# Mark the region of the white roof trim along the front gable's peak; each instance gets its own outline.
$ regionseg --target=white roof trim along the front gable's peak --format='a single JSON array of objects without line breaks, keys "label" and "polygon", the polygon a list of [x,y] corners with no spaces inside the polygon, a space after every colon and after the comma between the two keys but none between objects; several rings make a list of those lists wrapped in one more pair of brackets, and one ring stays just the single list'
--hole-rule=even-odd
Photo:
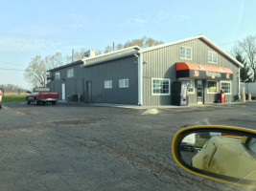
[{"label": "white roof trim along the front gable's peak", "polygon": [[205,43],[207,43],[208,45],[212,46],[214,49],[216,49],[220,53],[224,54],[231,61],[235,62],[239,67],[244,68],[244,65],[241,62],[239,62],[236,58],[234,58],[229,53],[226,53],[225,51],[223,51],[221,49],[221,47],[216,45],[213,41],[211,41],[209,38],[207,38],[203,34],[199,34],[199,35],[192,36],[192,37],[189,37],[189,38],[184,38],[184,39],[177,40],[177,41],[170,42],[170,43],[165,43],[165,44],[161,44],[161,45],[156,45],[156,46],[153,46],[153,47],[145,48],[145,49],[140,50],[139,53],[150,52],[150,51],[153,51],[153,50],[156,50],[156,49],[168,47],[168,46],[171,46],[171,45],[175,45],[175,44],[178,44],[178,43],[182,43],[182,42],[186,42],[186,41],[190,41],[190,40],[194,40],[194,39],[202,39]]}]

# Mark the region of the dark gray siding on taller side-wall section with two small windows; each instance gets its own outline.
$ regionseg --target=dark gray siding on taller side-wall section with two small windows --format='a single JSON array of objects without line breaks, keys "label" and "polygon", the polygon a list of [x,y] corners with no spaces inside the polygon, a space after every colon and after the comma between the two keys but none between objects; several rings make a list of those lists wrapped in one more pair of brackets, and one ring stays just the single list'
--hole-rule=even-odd
[{"label": "dark gray siding on taller side-wall section with two small windows", "polygon": [[[137,57],[135,56],[86,67],[84,81],[92,81],[92,101],[137,104],[137,69]],[[128,79],[128,88],[119,88],[119,79]],[[105,89],[105,80],[112,80],[111,89]]]}]

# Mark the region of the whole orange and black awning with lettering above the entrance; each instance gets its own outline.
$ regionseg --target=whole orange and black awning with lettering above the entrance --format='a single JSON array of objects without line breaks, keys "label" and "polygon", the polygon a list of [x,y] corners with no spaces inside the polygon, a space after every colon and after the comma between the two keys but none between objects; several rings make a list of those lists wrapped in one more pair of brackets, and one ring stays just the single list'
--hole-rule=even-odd
[{"label": "whole orange and black awning with lettering above the entrance", "polygon": [[233,72],[225,67],[177,62],[176,77],[231,80]]}]

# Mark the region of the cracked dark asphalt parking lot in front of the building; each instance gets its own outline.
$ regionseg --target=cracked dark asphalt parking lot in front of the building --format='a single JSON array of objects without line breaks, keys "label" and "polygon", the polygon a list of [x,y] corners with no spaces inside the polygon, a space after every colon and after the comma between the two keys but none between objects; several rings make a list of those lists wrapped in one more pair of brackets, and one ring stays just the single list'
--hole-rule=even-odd
[{"label": "cracked dark asphalt parking lot in front of the building", "polygon": [[256,102],[153,110],[3,106],[0,190],[244,190],[180,169],[171,144],[191,125],[256,129]]}]

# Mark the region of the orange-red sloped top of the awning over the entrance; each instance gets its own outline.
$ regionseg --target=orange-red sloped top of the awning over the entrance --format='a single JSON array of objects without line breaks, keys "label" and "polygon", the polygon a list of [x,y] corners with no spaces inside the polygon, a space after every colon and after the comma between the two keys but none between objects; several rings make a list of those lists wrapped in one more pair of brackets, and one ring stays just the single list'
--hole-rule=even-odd
[{"label": "orange-red sloped top of the awning over the entrance", "polygon": [[194,71],[207,71],[213,73],[225,73],[225,74],[233,74],[231,69],[220,66],[208,66],[203,64],[192,64],[185,62],[177,62],[176,63],[176,71],[184,71],[184,70],[194,70]]}]

